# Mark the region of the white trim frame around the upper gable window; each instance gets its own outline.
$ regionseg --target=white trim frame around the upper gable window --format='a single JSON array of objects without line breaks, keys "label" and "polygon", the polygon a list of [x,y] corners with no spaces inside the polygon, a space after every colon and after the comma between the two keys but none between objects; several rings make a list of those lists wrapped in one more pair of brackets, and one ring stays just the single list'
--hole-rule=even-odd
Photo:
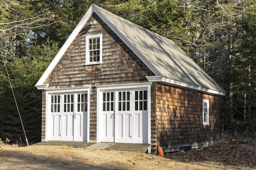
[{"label": "white trim frame around the upper gable window", "polygon": [[[89,53],[89,39],[100,37],[100,61],[90,62],[90,53]],[[92,64],[101,64],[102,63],[102,34],[96,35],[88,35],[85,38],[85,65],[92,65]]]}]

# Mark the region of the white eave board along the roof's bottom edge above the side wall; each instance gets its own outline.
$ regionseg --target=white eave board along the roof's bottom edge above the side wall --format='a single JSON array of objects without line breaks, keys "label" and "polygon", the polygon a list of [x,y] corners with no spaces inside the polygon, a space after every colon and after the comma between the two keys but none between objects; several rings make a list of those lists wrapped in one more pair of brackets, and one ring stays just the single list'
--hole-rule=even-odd
[{"label": "white eave board along the roof's bottom edge above the side wall", "polygon": [[190,89],[199,90],[199,91],[206,92],[206,93],[218,94],[218,95],[221,95],[221,96],[224,96],[226,94],[225,92],[220,92],[220,91],[211,90],[211,89],[208,89],[208,88],[194,86],[192,84],[180,82],[180,81],[177,81],[177,80],[172,80],[172,79],[165,78],[165,77],[162,77],[162,76],[146,76],[146,78],[148,79],[148,82],[165,82],[165,83],[168,83],[168,84],[173,84],[174,86],[190,88]]}]

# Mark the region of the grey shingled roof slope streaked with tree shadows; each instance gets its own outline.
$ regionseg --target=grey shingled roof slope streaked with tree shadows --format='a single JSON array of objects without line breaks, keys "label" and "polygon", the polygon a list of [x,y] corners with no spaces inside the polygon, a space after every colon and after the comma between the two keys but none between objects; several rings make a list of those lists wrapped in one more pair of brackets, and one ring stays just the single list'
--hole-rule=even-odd
[{"label": "grey shingled roof slope streaked with tree shadows", "polygon": [[96,5],[93,6],[96,9],[96,14],[103,17],[107,25],[113,26],[118,34],[122,35],[157,70],[160,76],[225,93],[223,88],[171,39],[149,31]]}]

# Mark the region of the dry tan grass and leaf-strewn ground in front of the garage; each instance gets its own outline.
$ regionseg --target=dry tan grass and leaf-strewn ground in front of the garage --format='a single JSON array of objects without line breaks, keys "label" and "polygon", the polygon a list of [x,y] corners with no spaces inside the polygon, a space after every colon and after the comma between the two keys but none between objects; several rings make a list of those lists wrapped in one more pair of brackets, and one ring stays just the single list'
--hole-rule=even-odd
[{"label": "dry tan grass and leaf-strewn ground in front of the garage", "polygon": [[218,146],[165,154],[49,146],[0,146],[0,169],[186,169],[252,170],[256,168],[256,140],[247,149],[234,148],[233,141]]}]

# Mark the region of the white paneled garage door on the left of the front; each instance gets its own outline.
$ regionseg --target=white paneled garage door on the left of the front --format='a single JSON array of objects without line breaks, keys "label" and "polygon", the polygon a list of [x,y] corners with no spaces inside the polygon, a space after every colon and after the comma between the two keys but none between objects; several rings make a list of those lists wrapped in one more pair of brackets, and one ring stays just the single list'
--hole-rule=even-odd
[{"label": "white paneled garage door on the left of the front", "polygon": [[50,115],[46,120],[49,140],[87,140],[87,101],[87,93],[50,95]]}]

